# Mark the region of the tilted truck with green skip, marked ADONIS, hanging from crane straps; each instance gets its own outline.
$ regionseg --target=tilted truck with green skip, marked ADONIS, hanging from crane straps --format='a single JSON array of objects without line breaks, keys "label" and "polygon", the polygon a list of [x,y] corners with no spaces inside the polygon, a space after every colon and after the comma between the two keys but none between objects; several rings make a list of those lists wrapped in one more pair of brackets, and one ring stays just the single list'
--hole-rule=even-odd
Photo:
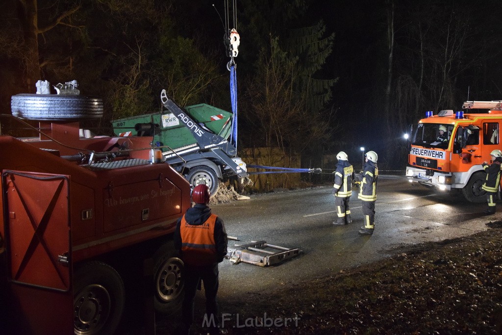
[{"label": "tilted truck with green skip, marked ADONIS, hanging from crane straps", "polygon": [[204,183],[211,195],[220,182],[247,181],[245,163],[237,157],[231,136],[232,113],[201,103],[181,108],[161,93],[164,109],[131,118],[112,121],[116,135],[144,136],[162,150],[166,162],[195,187]]}]

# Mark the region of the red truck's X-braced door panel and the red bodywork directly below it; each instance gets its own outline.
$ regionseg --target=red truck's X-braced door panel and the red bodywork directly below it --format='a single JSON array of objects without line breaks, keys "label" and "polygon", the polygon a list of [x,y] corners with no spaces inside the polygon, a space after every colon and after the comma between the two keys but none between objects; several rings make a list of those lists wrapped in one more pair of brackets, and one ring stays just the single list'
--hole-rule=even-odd
[{"label": "red truck's X-braced door panel and the red bodywork directly below it", "polygon": [[4,170],[2,189],[6,333],[72,334],[69,176]]}]

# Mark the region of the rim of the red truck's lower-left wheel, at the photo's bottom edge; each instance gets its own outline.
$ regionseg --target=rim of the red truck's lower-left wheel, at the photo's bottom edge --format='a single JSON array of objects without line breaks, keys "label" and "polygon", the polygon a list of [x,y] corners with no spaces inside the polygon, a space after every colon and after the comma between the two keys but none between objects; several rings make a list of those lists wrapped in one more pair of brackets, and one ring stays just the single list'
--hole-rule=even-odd
[{"label": "rim of the red truck's lower-left wheel, at the photo's bottom edge", "polygon": [[110,295],[104,286],[92,284],[84,287],[73,300],[75,333],[97,333],[110,314]]}]

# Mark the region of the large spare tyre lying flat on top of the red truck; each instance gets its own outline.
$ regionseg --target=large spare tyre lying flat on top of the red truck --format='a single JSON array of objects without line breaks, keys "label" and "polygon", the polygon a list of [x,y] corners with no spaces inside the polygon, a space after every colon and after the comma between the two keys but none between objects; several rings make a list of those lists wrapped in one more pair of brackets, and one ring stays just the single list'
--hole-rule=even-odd
[{"label": "large spare tyre lying flat on top of the red truck", "polygon": [[103,100],[84,95],[16,94],[12,115],[27,120],[65,121],[103,116]]}]

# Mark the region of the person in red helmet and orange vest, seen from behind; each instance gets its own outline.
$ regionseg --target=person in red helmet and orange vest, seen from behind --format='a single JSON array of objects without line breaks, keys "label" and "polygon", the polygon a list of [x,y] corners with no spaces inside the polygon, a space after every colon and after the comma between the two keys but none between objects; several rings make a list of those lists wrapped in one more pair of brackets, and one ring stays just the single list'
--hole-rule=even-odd
[{"label": "person in red helmet and orange vest, seen from behind", "polygon": [[194,318],[194,298],[199,282],[204,283],[206,315],[203,325],[210,333],[219,333],[218,263],[227,253],[227,236],[223,220],[208,207],[209,188],[195,186],[192,200],[195,205],[178,219],[174,243],[184,263],[185,297],[182,305],[182,333],[190,333]]}]

